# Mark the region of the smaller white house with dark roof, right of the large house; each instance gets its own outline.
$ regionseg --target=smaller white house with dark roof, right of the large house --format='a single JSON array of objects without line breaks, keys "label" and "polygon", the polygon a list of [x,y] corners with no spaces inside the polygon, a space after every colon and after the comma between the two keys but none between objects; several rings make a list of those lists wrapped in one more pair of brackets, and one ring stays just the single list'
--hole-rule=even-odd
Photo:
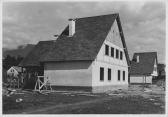
[{"label": "smaller white house with dark roof, right of the large house", "polygon": [[130,68],[130,83],[150,83],[158,76],[156,52],[134,53]]}]

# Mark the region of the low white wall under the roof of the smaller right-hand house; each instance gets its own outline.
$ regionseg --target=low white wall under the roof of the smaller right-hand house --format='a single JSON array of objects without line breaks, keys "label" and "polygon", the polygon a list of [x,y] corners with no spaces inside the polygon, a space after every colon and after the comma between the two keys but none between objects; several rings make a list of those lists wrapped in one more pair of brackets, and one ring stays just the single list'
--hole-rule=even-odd
[{"label": "low white wall under the roof of the smaller right-hand house", "polygon": [[130,76],[130,83],[151,83],[152,84],[152,76]]}]

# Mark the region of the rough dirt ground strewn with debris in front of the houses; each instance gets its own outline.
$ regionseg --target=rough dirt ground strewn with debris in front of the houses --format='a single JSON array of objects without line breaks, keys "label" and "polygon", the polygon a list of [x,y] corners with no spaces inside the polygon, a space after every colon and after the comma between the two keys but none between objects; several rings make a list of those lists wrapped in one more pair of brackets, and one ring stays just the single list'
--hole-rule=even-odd
[{"label": "rough dirt ground strewn with debris in front of the houses", "polygon": [[156,85],[92,94],[17,90],[3,96],[3,114],[164,114],[165,91]]}]

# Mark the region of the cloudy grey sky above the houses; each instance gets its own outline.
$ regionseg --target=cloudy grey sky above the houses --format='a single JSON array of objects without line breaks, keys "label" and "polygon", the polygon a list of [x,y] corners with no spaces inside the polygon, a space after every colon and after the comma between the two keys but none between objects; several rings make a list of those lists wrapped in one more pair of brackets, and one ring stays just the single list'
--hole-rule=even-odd
[{"label": "cloudy grey sky above the houses", "polygon": [[3,48],[53,40],[69,18],[119,13],[129,57],[156,51],[165,63],[166,5],[156,1],[3,2]]}]

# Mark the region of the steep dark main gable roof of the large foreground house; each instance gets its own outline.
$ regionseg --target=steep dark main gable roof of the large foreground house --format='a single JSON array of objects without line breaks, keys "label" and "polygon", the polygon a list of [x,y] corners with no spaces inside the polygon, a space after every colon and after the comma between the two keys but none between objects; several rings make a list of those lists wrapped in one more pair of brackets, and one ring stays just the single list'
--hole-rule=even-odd
[{"label": "steep dark main gable roof of the large foreground house", "polygon": [[[28,58],[32,55],[38,56],[38,59],[31,59],[32,61],[36,60],[34,63],[38,62],[38,65],[40,62],[94,60],[115,20],[119,26],[125,55],[129,65],[129,56],[119,14],[76,18],[75,34],[72,37],[69,36],[69,27],[67,26],[55,43],[52,42],[52,46],[47,46],[49,49],[46,49],[46,52],[43,54],[36,53],[34,51],[43,50],[44,48],[40,49],[40,47],[35,47]],[[24,61],[26,62],[26,60]],[[26,64],[33,65],[31,62]]]}]

